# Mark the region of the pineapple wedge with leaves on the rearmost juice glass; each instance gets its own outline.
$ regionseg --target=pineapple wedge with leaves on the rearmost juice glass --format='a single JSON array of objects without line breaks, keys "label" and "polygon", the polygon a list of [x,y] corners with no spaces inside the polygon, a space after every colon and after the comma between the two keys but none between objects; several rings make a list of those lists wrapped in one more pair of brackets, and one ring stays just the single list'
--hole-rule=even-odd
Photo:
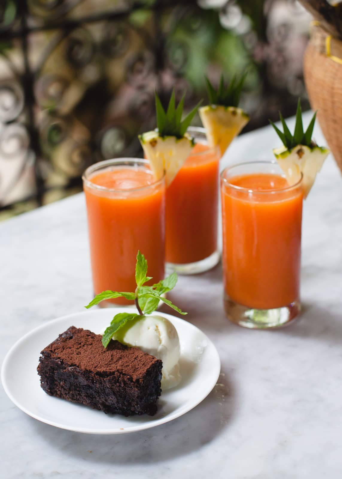
[{"label": "pineapple wedge with leaves on the rearmost juice glass", "polygon": [[218,146],[221,156],[250,119],[247,113],[238,108],[245,77],[246,75],[243,75],[240,80],[234,77],[225,87],[222,75],[217,91],[205,78],[210,105],[200,108],[199,114],[206,130],[209,146],[212,148]]}]

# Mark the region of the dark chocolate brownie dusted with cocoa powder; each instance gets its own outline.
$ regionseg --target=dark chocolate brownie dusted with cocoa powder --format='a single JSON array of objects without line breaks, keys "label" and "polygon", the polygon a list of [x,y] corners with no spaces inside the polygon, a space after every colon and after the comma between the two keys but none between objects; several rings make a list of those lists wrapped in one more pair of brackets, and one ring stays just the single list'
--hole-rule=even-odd
[{"label": "dark chocolate brownie dusted with cocoa powder", "polygon": [[153,414],[160,396],[162,362],[118,341],[71,326],[41,352],[41,387],[50,396],[105,413]]}]

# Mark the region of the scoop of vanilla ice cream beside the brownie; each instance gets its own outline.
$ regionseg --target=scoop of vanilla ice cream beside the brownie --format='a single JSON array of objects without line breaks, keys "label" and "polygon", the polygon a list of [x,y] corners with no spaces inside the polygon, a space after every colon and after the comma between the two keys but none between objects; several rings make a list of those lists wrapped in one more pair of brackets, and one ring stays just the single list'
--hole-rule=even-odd
[{"label": "scoop of vanilla ice cream beside the brownie", "polygon": [[127,346],[137,346],[163,362],[161,388],[170,389],[179,384],[180,344],[176,328],[162,316],[142,316],[127,321],[117,331],[115,339]]}]

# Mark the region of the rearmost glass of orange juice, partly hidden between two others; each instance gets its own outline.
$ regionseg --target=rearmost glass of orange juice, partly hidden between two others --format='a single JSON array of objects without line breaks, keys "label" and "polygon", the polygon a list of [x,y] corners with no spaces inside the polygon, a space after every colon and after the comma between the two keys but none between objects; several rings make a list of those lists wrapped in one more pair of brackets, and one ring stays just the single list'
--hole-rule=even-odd
[{"label": "rearmost glass of orange juice, partly hidden between two others", "polygon": [[217,249],[219,148],[209,148],[204,128],[188,128],[194,148],[166,190],[166,264],[179,274],[214,267]]}]

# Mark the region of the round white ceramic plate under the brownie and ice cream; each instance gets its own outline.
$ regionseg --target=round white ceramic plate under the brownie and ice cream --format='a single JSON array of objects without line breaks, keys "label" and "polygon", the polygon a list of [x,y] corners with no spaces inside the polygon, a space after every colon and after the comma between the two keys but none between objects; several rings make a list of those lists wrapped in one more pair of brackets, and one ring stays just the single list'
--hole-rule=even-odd
[{"label": "round white ceramic plate under the brownie and ice cream", "polygon": [[86,406],[48,396],[37,374],[42,351],[70,326],[100,333],[114,314],[127,308],[93,309],[54,319],[17,341],[2,364],[1,380],[8,397],[18,408],[52,426],[91,434],[119,434],[140,431],[172,421],[193,409],[214,388],[220,373],[220,359],[214,344],[194,325],[170,314],[158,312],[175,326],[180,343],[181,383],[162,392],[155,416],[104,414]]}]

